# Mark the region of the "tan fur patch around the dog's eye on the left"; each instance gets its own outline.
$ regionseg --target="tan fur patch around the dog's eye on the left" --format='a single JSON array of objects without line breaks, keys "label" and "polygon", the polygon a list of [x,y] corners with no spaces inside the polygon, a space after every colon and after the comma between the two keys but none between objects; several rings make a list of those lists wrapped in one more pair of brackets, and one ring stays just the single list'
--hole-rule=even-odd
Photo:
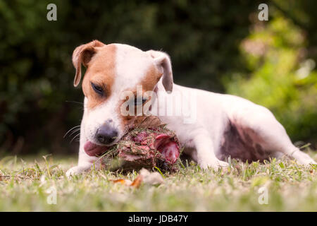
[{"label": "tan fur patch around the dog's eye on the left", "polygon": [[[111,88],[116,76],[116,45],[108,44],[97,49],[96,54],[87,64],[87,71],[82,81],[82,91],[88,98],[87,107],[92,109],[105,102],[111,95]],[[97,94],[91,83],[104,89],[104,95]]]}]

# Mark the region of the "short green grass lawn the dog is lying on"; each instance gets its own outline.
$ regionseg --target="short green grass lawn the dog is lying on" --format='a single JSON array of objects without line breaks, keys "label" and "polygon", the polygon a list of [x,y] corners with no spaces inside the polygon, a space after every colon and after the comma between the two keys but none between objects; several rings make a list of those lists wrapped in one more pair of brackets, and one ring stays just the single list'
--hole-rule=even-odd
[{"label": "short green grass lawn the dog is lying on", "polygon": [[[309,153],[316,160],[317,153]],[[232,160],[230,169],[203,171],[190,162],[165,184],[139,189],[109,179],[137,177],[92,171],[67,179],[77,157],[5,157],[0,160],[0,211],[316,211],[316,165],[302,167],[291,160],[251,164]],[[186,166],[186,164],[185,164]],[[5,176],[5,177],[4,177]],[[260,205],[260,187],[268,189],[268,204]],[[55,187],[56,205],[46,201]]]}]

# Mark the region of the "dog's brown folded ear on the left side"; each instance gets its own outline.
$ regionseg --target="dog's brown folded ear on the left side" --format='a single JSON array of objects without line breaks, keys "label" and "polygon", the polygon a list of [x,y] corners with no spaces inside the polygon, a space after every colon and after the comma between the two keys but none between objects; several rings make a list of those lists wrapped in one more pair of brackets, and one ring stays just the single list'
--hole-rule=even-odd
[{"label": "dog's brown folded ear on the left side", "polygon": [[74,86],[80,83],[82,77],[82,64],[87,68],[87,64],[92,59],[92,56],[97,52],[96,47],[103,47],[104,43],[94,40],[87,44],[82,44],[73,52],[73,65],[76,69]]}]

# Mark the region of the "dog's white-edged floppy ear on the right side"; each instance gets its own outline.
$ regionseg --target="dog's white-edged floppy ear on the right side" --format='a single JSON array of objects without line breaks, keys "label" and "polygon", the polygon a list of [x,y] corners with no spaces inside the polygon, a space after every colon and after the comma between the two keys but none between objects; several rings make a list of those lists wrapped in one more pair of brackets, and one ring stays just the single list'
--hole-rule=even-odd
[{"label": "dog's white-edged floppy ear on the right side", "polygon": [[162,83],[167,93],[173,90],[173,72],[170,57],[165,52],[149,50],[147,51],[153,57],[154,63],[159,69],[163,70]]}]

